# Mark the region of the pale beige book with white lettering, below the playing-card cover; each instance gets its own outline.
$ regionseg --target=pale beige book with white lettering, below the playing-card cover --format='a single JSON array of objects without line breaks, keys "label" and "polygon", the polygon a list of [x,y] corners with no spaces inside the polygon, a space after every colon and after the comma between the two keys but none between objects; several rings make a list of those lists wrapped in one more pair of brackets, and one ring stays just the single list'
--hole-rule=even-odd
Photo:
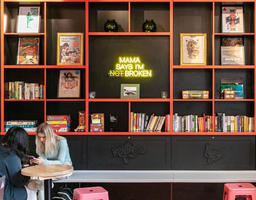
[{"label": "pale beige book with white lettering, below the playing-card cover", "polygon": [[221,46],[221,65],[244,65],[244,46]]}]

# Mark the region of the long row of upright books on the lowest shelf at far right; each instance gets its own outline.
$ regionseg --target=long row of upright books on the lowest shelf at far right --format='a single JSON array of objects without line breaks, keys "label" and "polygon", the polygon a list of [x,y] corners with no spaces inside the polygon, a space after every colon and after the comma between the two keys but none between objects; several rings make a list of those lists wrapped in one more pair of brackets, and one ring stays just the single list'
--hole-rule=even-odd
[{"label": "long row of upright books on the lowest shelf at far right", "polygon": [[245,115],[226,115],[217,113],[215,116],[205,115],[173,115],[173,132],[253,132],[254,117]]}]

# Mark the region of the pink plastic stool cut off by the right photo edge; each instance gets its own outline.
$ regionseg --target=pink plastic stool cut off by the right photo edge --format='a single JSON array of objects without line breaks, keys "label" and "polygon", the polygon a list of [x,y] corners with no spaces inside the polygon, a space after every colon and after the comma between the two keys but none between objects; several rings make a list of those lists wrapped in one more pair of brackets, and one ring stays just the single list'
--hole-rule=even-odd
[{"label": "pink plastic stool cut off by the right photo edge", "polygon": [[224,184],[223,200],[235,200],[236,197],[256,200],[256,188],[249,183]]}]

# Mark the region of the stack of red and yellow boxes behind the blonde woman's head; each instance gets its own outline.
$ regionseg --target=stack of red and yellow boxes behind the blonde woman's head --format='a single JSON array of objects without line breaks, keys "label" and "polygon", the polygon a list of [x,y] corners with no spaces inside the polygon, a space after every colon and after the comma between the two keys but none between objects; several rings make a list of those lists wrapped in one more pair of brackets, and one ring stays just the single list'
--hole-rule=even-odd
[{"label": "stack of red and yellow boxes behind the blonde woman's head", "polygon": [[46,123],[50,124],[54,132],[69,132],[71,115],[47,115]]}]

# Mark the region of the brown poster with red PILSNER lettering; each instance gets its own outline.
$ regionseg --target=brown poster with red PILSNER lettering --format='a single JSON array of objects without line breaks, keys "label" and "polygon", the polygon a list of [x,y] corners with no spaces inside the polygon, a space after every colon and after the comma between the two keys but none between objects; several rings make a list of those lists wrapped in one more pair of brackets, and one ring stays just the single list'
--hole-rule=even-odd
[{"label": "brown poster with red PILSNER lettering", "polygon": [[80,70],[60,70],[58,98],[79,98],[80,86]]}]

